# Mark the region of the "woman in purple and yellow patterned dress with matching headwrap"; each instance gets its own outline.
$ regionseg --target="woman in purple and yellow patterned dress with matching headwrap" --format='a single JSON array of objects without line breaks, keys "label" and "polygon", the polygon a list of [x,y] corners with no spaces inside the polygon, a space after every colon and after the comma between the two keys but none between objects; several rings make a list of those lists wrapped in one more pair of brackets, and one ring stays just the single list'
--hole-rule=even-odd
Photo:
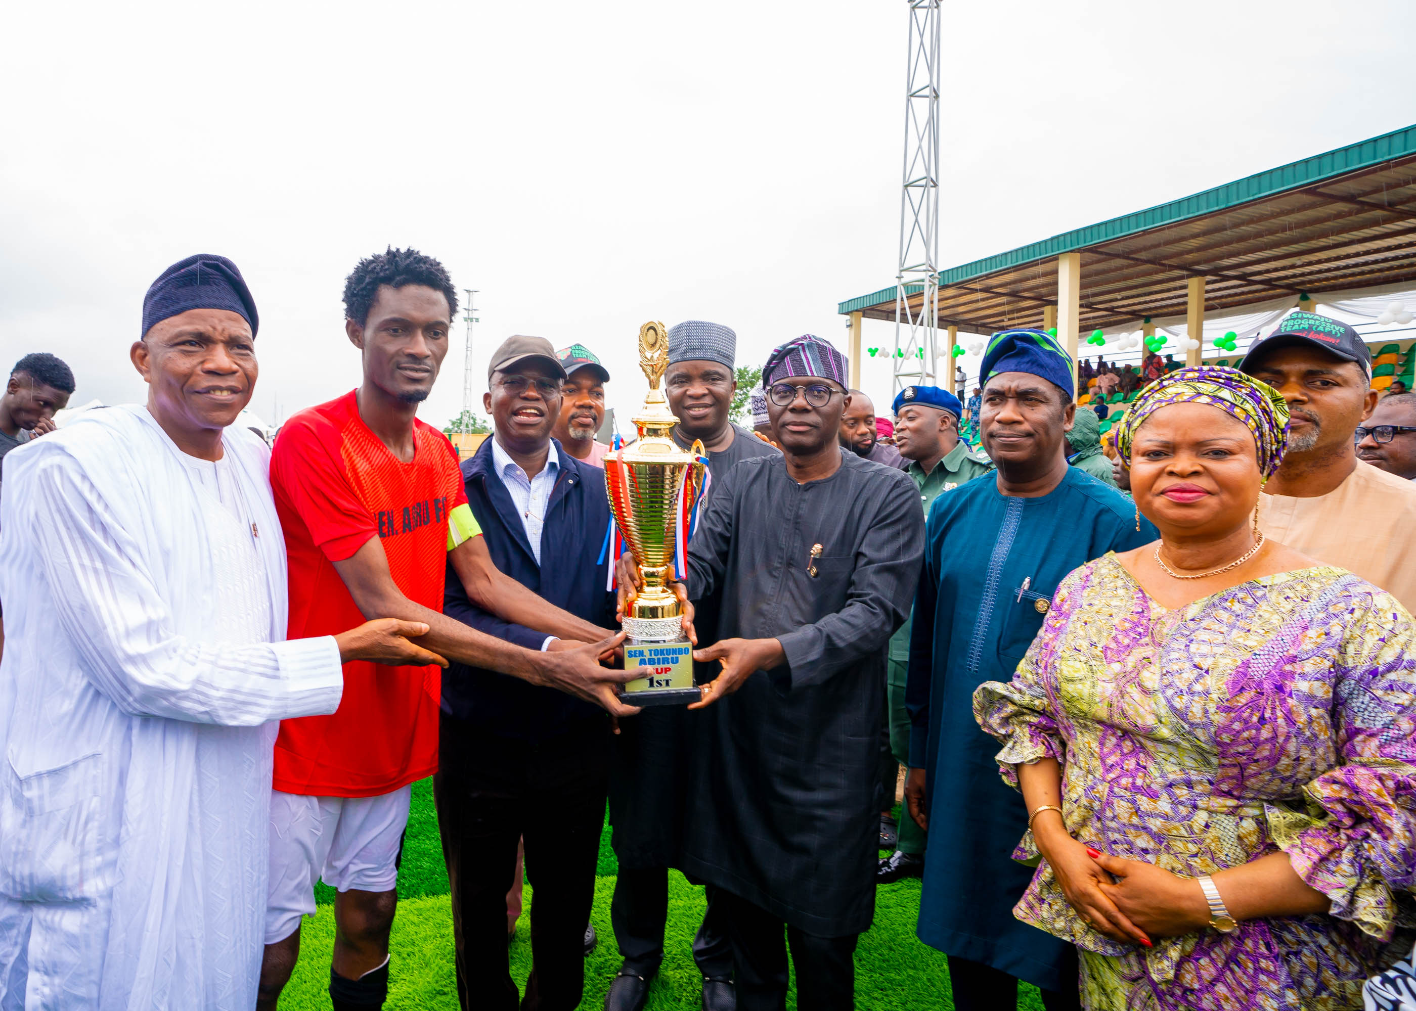
[{"label": "woman in purple and yellow patterned dress with matching headwrap", "polygon": [[1235,370],[1147,387],[1117,450],[1161,539],[1072,572],[974,694],[1041,859],[1014,912],[1092,1011],[1361,1008],[1410,950],[1416,626],[1259,532],[1286,423]]}]

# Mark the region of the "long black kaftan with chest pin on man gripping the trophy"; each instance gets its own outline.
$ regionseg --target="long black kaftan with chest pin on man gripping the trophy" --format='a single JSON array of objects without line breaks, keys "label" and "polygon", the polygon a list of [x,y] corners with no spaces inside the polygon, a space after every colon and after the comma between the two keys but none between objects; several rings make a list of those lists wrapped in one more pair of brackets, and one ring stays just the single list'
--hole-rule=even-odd
[{"label": "long black kaftan with chest pin on man gripping the trophy", "polygon": [[690,547],[690,596],[721,590],[719,637],[776,637],[787,663],[697,714],[680,867],[817,936],[874,915],[881,685],[919,576],[918,496],[848,452],[806,484],[780,456],[746,460]]}]

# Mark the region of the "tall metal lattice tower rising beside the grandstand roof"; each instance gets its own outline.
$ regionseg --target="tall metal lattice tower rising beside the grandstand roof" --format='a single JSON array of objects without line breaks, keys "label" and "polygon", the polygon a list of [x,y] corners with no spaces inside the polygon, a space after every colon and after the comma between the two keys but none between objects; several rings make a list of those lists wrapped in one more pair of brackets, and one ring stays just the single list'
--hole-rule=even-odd
[{"label": "tall metal lattice tower rising beside the grandstand roof", "polygon": [[[910,296],[922,296],[919,309]],[[909,0],[905,173],[895,275],[895,391],[933,384],[939,330],[939,0]],[[944,362],[943,368],[952,368]]]}]

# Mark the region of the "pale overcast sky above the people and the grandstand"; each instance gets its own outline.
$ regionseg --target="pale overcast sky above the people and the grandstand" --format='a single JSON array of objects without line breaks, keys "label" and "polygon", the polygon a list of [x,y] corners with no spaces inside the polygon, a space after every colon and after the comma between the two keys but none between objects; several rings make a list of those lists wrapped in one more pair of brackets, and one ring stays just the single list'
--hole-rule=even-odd
[{"label": "pale overcast sky above the people and the grandstand", "polygon": [[[412,245],[480,289],[474,358],[581,341],[641,401],[644,320],[739,364],[893,283],[906,0],[14,4],[0,361],[146,396],[143,292],[231,256],[266,421],[357,385],[343,279]],[[1416,122],[1409,0],[946,4],[952,266]],[[889,347],[893,324],[867,323]],[[462,399],[463,329],[422,418]],[[865,388],[884,401],[885,362]],[[479,405],[480,406],[480,405]]]}]

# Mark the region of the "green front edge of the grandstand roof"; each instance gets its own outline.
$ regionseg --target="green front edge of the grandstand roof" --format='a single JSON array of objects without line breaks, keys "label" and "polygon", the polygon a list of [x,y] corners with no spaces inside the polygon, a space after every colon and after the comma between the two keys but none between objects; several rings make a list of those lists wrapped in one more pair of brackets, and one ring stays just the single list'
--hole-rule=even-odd
[{"label": "green front edge of the grandstand roof", "polygon": [[[1212,190],[1172,200],[1168,204],[1158,204],[1157,207],[1150,207],[1144,211],[1123,214],[1121,217],[1112,218],[1110,221],[1102,221],[1100,224],[1087,225],[1086,228],[1076,228],[1070,232],[1062,232],[1061,235],[1042,239],[1041,242],[1031,242],[1025,246],[1010,249],[1008,252],[976,259],[971,263],[963,263],[960,266],[949,268],[947,270],[940,270],[939,285],[940,287],[961,285],[995,270],[1021,266],[1039,259],[1048,259],[1065,252],[1075,252],[1076,249],[1085,249],[1086,246],[1096,245],[1097,242],[1110,242],[1113,239],[1144,232],[1151,228],[1160,228],[1161,225],[1172,225],[1177,221],[1185,221],[1187,218],[1215,214],[1216,211],[1246,204],[1252,200],[1272,197],[1274,194],[1284,193],[1286,190],[1314,185],[1335,176],[1345,176],[1349,171],[1368,168],[1371,166],[1381,164],[1382,161],[1391,161],[1392,159],[1405,157],[1408,154],[1416,154],[1416,125],[1405,126],[1399,130],[1392,130],[1391,133],[1382,133],[1381,136],[1369,137],[1366,140],[1359,140],[1355,144],[1324,152],[1323,154],[1314,154],[1277,168],[1255,173],[1253,176],[1246,176],[1240,180],[1235,180],[1233,183],[1216,185]],[[871,306],[878,306],[884,302],[889,302],[893,297],[895,286],[891,285],[889,287],[882,287],[871,295],[862,295],[857,299],[841,302],[835,312],[845,316]]]}]

